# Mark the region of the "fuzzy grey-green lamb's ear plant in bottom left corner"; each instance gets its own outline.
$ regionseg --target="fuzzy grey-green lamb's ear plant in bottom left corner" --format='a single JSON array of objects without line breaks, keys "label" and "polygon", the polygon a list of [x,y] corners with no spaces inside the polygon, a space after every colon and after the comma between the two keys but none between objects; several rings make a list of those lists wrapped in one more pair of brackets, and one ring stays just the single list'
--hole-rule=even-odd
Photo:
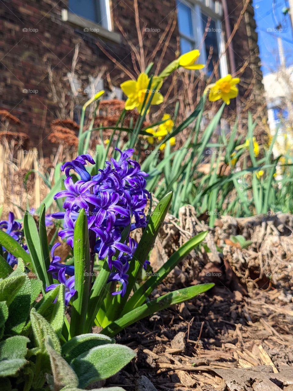
[{"label": "fuzzy grey-green lamb's ear plant in bottom left corner", "polygon": [[41,285],[38,278],[27,276],[20,258],[14,271],[0,258],[2,391],[83,390],[114,375],[135,356],[106,335],[83,334],[66,341],[61,334],[64,285],[36,302]]}]

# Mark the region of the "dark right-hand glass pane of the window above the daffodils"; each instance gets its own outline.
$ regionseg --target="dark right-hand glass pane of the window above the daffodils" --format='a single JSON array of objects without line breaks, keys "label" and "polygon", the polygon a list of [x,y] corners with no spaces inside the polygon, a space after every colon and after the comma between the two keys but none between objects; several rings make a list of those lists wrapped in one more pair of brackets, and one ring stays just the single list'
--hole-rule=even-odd
[{"label": "dark right-hand glass pane of the window above the daffodils", "polygon": [[[211,75],[214,70],[214,63],[218,62],[219,59],[219,49],[218,49],[218,29],[216,29],[216,22],[211,20],[209,27],[207,27],[207,16],[205,14],[201,15],[202,24],[204,26],[203,34],[206,34],[204,48],[206,52],[207,58],[209,57],[210,48],[212,47],[213,55],[209,65],[207,66],[207,75]],[[218,68],[218,72],[220,74],[220,67]]]}]

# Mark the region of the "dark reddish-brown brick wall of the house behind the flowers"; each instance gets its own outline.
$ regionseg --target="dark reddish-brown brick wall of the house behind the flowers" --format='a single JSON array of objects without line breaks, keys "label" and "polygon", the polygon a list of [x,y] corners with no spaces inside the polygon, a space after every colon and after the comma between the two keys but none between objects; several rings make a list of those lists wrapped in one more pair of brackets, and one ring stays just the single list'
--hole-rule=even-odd
[{"label": "dark reddish-brown brick wall of the house behind the flowers", "polygon": [[[228,3],[232,9],[242,2],[229,0]],[[139,0],[138,4],[141,27],[145,25],[150,29],[161,30],[159,33],[145,34],[144,46],[152,52],[170,18],[176,18],[175,0]],[[105,67],[109,77],[117,85],[122,79],[128,78],[98,48],[96,36],[61,20],[63,8],[66,8],[66,0],[3,0],[0,8],[0,108],[5,108],[20,118],[21,125],[18,129],[28,133],[32,145],[42,147],[44,151],[51,148],[48,147],[46,135],[49,132],[48,124],[56,118],[56,105],[50,93],[48,65],[54,74],[66,73],[71,68],[75,45],[80,42],[77,73],[83,77],[96,75],[101,67]],[[240,7],[236,7],[236,12],[230,14],[232,27],[238,10],[241,11]],[[112,0],[112,17],[113,20],[118,18],[127,36],[137,42],[133,1]],[[113,25],[114,30],[119,31],[115,23]],[[247,21],[243,19],[233,39],[234,50],[239,54],[236,56],[238,67],[241,67],[253,49],[250,47],[253,44],[248,42],[246,26]],[[175,58],[177,36],[176,26],[162,66]],[[101,43],[116,61],[133,73],[131,50],[123,37],[120,44],[105,39]],[[105,75],[106,73],[104,77]],[[252,79],[251,69],[245,77],[248,81]],[[105,83],[107,84],[107,78]]]}]

